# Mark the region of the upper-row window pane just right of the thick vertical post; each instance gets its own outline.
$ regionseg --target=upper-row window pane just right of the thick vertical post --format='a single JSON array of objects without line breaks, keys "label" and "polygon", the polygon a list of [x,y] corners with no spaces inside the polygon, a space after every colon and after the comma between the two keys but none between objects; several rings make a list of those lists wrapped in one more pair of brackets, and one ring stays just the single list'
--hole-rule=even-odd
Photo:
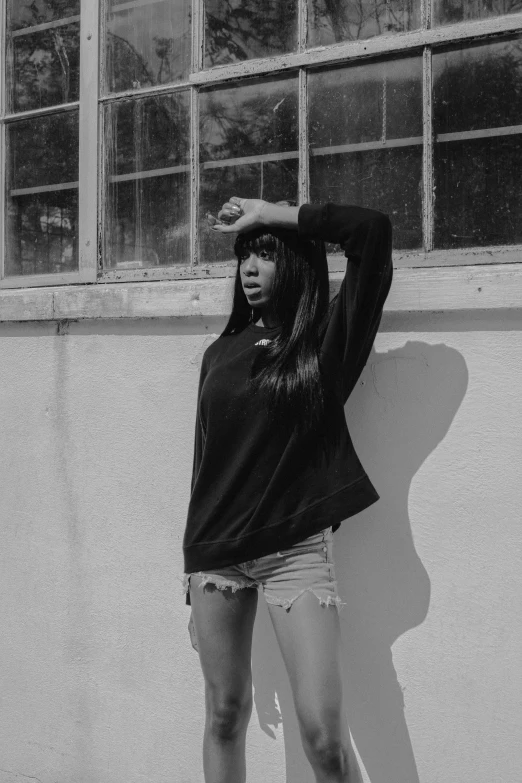
[{"label": "upper-row window pane just right of the thick vertical post", "polygon": [[190,0],[109,0],[106,31],[106,92],[187,77]]}]

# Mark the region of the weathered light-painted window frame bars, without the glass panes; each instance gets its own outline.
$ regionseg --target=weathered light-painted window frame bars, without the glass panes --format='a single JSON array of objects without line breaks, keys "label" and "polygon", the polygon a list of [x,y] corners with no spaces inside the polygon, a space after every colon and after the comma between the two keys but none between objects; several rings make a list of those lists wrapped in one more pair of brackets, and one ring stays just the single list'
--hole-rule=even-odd
[{"label": "weathered light-painted window frame bars, without the glass panes", "polygon": [[[137,0],[139,2],[139,0]],[[421,0],[421,26],[417,30],[388,36],[345,41],[306,48],[307,0],[298,2],[298,48],[295,53],[262,59],[246,60],[230,65],[203,68],[204,36],[203,0],[192,0],[192,71],[187,80],[151,88],[103,94],[104,62],[102,47],[105,40],[105,19],[108,0],[81,0],[80,13],[80,96],[79,101],[7,114],[5,77],[0,85],[0,156],[5,161],[6,127],[20,119],[79,110],[79,268],[76,272],[44,275],[4,277],[5,258],[5,177],[6,166],[0,167],[0,289],[41,286],[67,286],[91,283],[135,283],[146,281],[176,281],[183,279],[230,277],[235,274],[231,264],[199,264],[198,208],[199,208],[199,90],[249,77],[267,77],[276,74],[298,74],[298,203],[308,200],[308,125],[307,79],[310,70],[321,66],[342,65],[386,56],[421,55],[423,63],[423,203],[422,250],[394,251],[396,267],[448,267],[482,264],[513,264],[522,259],[522,245],[469,247],[440,250],[433,248],[433,123],[432,123],[432,55],[439,47],[471,43],[476,40],[494,41],[502,36],[522,33],[522,12],[506,16],[459,22],[432,28],[432,2]],[[5,62],[7,0],[0,0],[0,61]],[[4,73],[6,69],[3,69]],[[190,95],[190,254],[188,263],[138,269],[103,269],[102,230],[103,199],[105,194],[103,112],[106,104],[129,98],[172,94],[188,91]],[[97,166],[92,161],[97,161]],[[329,256],[330,271],[344,268],[341,255]]]}]

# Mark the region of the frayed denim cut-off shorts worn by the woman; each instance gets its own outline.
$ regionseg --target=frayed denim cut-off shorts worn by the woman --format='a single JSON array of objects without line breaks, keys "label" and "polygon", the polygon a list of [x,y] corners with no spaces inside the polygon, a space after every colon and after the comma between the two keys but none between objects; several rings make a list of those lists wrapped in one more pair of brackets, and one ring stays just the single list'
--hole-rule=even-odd
[{"label": "frayed denim cut-off shorts worn by the woman", "polygon": [[[232,592],[242,587],[262,587],[268,604],[283,606],[287,611],[290,611],[296,598],[307,590],[321,604],[335,604],[337,611],[345,605],[337,594],[331,527],[288,549],[257,560],[247,560],[213,571],[194,571],[193,574],[203,577],[199,583],[201,588],[209,583],[218,590],[229,587]],[[193,574],[184,574],[180,580],[183,583],[183,595],[189,589]]]}]

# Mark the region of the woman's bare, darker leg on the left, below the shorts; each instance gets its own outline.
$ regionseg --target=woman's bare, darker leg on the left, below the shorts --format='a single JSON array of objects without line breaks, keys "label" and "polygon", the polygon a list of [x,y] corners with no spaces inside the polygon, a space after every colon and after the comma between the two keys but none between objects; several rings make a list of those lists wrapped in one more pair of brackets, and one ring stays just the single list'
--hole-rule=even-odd
[{"label": "woman's bare, darker leg on the left, below the shorts", "polygon": [[232,592],[190,578],[192,617],[205,679],[205,783],[245,783],[245,737],[252,713],[252,633],[256,588]]}]

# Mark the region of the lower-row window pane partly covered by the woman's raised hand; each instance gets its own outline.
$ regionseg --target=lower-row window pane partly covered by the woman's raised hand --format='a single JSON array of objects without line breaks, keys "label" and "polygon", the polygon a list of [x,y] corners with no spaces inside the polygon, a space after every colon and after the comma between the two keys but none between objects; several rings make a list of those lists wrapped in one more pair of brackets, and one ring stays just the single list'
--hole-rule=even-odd
[{"label": "lower-row window pane partly covered by the woman's raised hand", "polygon": [[230,196],[297,200],[297,78],[202,92],[200,122],[201,260],[233,261],[233,238],[205,216]]}]

